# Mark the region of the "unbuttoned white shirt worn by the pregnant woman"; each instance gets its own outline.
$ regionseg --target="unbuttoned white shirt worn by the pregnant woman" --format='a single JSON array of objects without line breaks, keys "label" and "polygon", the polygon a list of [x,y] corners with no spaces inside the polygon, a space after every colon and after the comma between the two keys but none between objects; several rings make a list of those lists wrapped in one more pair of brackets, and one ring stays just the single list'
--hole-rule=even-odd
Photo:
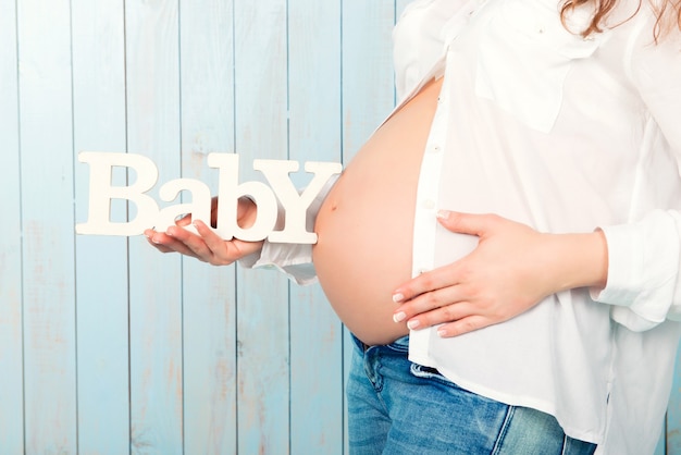
[{"label": "unbuttoned white shirt worn by the pregnant woman", "polygon": [[[556,0],[418,0],[394,32],[396,109],[445,78],[421,167],[413,275],[475,246],[438,225],[439,208],[542,232],[599,226],[609,251],[602,292],[561,292],[454,339],[412,331],[409,357],[556,416],[599,454],[654,452],[680,334],[669,319],[681,315],[681,34],[654,46],[653,24],[643,2],[583,39],[561,25]],[[310,261],[307,246],[267,245],[258,265],[309,282],[297,266]]]}]

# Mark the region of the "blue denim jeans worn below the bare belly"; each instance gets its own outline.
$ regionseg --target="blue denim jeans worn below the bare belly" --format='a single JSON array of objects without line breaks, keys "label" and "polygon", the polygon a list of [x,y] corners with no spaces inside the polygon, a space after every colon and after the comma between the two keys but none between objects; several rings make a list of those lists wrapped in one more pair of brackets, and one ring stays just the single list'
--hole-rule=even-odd
[{"label": "blue denim jeans worn below the bare belly", "polygon": [[407,358],[409,337],[356,348],[347,385],[350,454],[583,455],[556,419],[468,392]]}]

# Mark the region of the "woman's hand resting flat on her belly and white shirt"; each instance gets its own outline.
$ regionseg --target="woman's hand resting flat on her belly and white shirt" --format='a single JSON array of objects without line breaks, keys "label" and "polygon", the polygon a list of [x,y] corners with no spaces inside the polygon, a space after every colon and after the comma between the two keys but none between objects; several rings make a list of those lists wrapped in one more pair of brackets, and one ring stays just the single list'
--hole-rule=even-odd
[{"label": "woman's hand resting flat on her belly and white shirt", "polygon": [[410,329],[443,324],[457,336],[507,321],[544,297],[583,286],[604,287],[607,245],[600,231],[544,234],[494,214],[441,211],[451,232],[479,237],[465,258],[410,280],[395,290],[396,322]]}]

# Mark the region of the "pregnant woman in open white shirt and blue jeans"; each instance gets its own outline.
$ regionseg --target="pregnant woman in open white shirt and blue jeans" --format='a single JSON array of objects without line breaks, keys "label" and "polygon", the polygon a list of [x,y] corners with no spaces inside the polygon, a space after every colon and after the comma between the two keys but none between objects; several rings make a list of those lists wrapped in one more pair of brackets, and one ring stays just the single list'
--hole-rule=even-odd
[{"label": "pregnant woman in open white shirt and blue jeans", "polygon": [[357,346],[351,453],[649,454],[681,319],[680,14],[414,1],[403,101],[315,207],[317,245],[146,234],[299,283],[314,265]]}]

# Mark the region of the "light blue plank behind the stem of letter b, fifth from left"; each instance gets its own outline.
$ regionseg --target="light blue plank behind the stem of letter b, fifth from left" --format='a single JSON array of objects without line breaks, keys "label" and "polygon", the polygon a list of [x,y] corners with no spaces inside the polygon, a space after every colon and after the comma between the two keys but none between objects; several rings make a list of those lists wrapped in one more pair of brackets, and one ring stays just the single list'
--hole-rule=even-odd
[{"label": "light blue plank behind the stem of letter b, fifth from left", "polygon": [[[234,151],[233,2],[181,3],[183,176],[216,194],[211,152]],[[183,261],[184,434],[187,454],[236,453],[234,266]]]}]

